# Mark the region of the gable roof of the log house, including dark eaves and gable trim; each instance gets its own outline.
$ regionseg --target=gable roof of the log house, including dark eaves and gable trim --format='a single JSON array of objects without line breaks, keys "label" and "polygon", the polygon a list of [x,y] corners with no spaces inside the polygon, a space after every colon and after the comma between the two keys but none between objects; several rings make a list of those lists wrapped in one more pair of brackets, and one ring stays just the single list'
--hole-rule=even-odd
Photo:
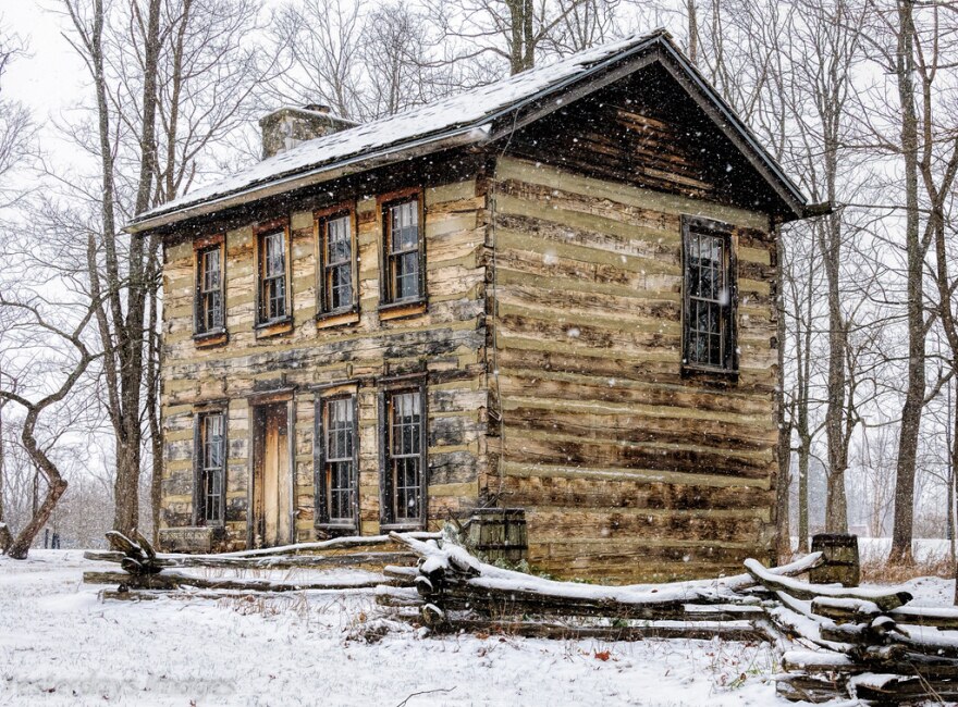
[{"label": "gable roof of the log house, including dark eaves and gable trim", "polygon": [[[564,104],[562,96],[567,92],[578,89],[575,98],[579,98],[653,61],[665,65],[745,153],[778,195],[784,211],[791,219],[807,215],[808,201],[798,186],[685,58],[668,33],[659,29],[588,49],[434,103],[307,140],[146,211],[135,216],[125,231],[147,232],[414,156],[486,142],[499,136],[496,128],[515,129],[524,110],[535,109],[521,121],[527,124],[557,110]],[[545,101],[549,98],[554,100]]]}]

